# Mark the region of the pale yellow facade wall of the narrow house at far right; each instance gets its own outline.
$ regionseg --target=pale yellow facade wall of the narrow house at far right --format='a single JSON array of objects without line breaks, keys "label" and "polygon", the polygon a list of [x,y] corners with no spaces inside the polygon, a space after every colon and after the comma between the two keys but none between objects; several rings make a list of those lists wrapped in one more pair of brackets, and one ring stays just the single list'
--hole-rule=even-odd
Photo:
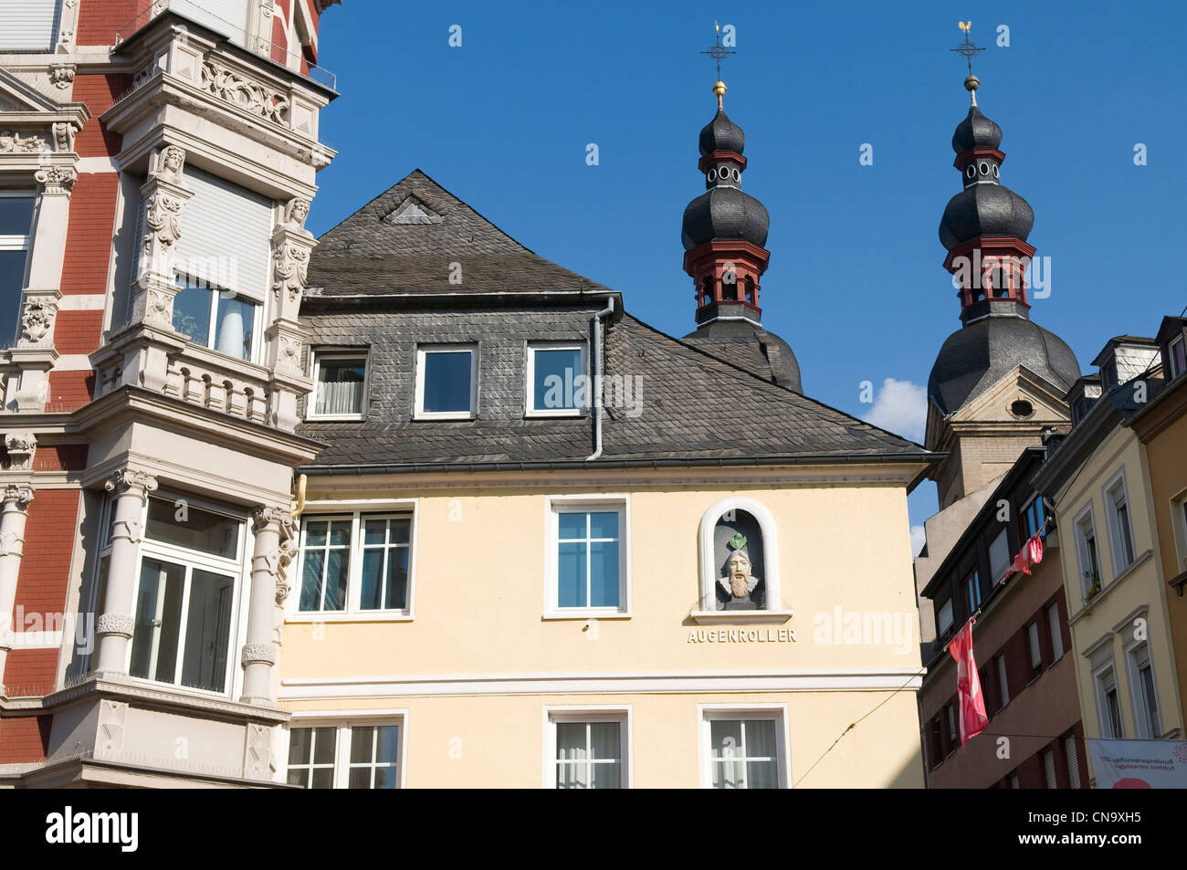
[{"label": "pale yellow facade wall of the narrow house at far right", "polygon": [[[1071,481],[1071,487],[1067,488],[1065,484],[1066,491],[1056,495],[1060,540],[1064,544],[1060,547],[1060,560],[1075,650],[1080,712],[1087,737],[1102,736],[1093,671],[1094,663],[1107,659],[1110,652],[1117,680],[1124,737],[1140,736],[1135,716],[1137,700],[1126,652],[1126,633],[1137,627],[1136,620],[1145,620],[1144,631],[1157,684],[1162,734],[1173,732],[1175,729],[1181,734],[1182,729],[1169,620],[1162,591],[1161,558],[1155,547],[1149,470],[1145,463],[1145,450],[1132,430],[1117,427]],[[1104,490],[1122,469],[1125,472],[1136,559],[1118,574],[1113,566],[1112,538]],[[1090,503],[1097,533],[1102,591],[1086,604],[1080,584],[1075,521]]]}]

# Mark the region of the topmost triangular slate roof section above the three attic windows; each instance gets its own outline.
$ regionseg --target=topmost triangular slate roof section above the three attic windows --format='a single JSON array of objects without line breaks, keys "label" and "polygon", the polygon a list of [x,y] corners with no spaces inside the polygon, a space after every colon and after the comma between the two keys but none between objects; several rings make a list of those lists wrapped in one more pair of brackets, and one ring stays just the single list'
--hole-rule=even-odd
[{"label": "topmost triangular slate roof section above the three attic windows", "polygon": [[[410,196],[439,220],[386,221]],[[452,262],[461,284],[450,282]],[[315,296],[609,291],[528,250],[420,170],[318,239],[309,286]]]}]

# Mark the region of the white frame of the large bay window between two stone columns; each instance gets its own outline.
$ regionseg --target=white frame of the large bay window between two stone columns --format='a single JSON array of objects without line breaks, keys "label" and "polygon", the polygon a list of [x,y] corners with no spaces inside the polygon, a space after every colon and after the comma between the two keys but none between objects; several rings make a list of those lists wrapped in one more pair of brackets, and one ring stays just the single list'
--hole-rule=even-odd
[{"label": "white frame of the large bay window between two stone columns", "polygon": [[[184,500],[186,504],[191,508],[198,508],[212,514],[218,514],[231,520],[236,520],[240,523],[240,535],[239,546],[236,551],[236,557],[231,559],[224,559],[217,555],[210,555],[208,553],[199,553],[193,550],[186,550],[185,547],[179,547],[174,544],[165,544],[163,541],[153,540],[147,535],[148,527],[148,500],[159,498],[165,502],[176,503],[178,500]],[[112,504],[112,500],[108,500]],[[104,514],[104,521],[110,523],[114,520],[114,508],[109,509]],[[141,536],[140,542],[137,548],[137,569],[134,574],[134,580],[132,585],[132,610],[133,618],[135,618],[137,603],[140,599],[140,582],[141,572],[144,566],[144,559],[147,555],[153,559],[161,559],[170,563],[182,563],[188,569],[192,570],[198,567],[201,570],[209,570],[221,574],[230,574],[233,577],[234,586],[231,589],[231,625],[228,631],[230,639],[230,649],[227,650],[227,674],[223,677],[224,690],[221,692],[211,691],[207,688],[199,688],[196,686],[183,686],[180,682],[164,682],[160,680],[154,680],[148,677],[132,677],[132,646],[133,640],[128,639],[127,650],[125,652],[123,669],[125,673],[129,674],[128,679],[141,684],[151,686],[167,686],[170,691],[198,694],[209,698],[227,698],[235,697],[240,693],[242,685],[243,668],[239,665],[239,655],[236,654],[243,644],[247,642],[247,609],[249,604],[250,596],[247,595],[249,584],[249,561],[248,553],[252,548],[250,534],[247,522],[246,514],[241,514],[234,508],[226,504],[218,504],[215,502],[207,501],[204,498],[197,497],[189,493],[180,493],[174,490],[157,490],[155,493],[146,496],[140,506],[140,528]],[[95,571],[97,578],[99,565],[102,561],[103,554],[110,554],[110,547],[104,547],[104,552],[100,553],[100,558],[95,561]],[[185,592],[182,598],[182,625],[178,631],[177,650],[178,660],[174,668],[177,673],[183,663],[185,654],[185,628],[189,621],[189,608],[190,608],[190,589],[192,580],[186,583]],[[97,591],[97,583],[96,583]],[[103,602],[96,602],[96,618],[97,615],[102,612]],[[93,656],[94,660],[94,656]]]}]

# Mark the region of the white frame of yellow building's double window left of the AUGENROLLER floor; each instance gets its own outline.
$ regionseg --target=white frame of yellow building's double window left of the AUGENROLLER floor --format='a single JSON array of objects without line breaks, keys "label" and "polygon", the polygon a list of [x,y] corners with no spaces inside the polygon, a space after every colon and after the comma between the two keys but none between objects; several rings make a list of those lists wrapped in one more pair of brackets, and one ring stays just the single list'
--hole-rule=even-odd
[{"label": "white frame of yellow building's double window left of the AUGENROLLER floor", "polygon": [[[412,622],[415,618],[417,603],[417,527],[419,522],[419,500],[375,500],[373,502],[310,501],[300,517],[300,532],[297,536],[298,557],[293,577],[293,591],[288,596],[290,610],[285,614],[286,622]],[[363,610],[362,570],[363,570],[363,521],[364,520],[411,520],[408,529],[408,607],[388,610]],[[350,521],[350,565],[347,573],[347,607],[343,610],[300,610],[300,590],[305,577],[305,535],[307,523],[318,520]],[[324,593],[323,593],[324,597]]]}]

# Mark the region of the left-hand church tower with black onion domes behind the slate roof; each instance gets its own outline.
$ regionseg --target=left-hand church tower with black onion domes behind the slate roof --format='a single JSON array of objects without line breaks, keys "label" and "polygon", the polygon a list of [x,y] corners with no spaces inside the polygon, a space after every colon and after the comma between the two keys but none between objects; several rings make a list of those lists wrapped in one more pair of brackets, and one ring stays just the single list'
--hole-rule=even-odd
[{"label": "left-hand church tower with black onion domes behind the slate roof", "polygon": [[770,218],[766,207],[742,190],[745,134],[725,114],[725,83],[718,80],[713,94],[717,114],[698,142],[697,169],[705,176],[705,192],[685,208],[680,234],[684,271],[692,278],[697,300],[697,329],[684,341],[801,393],[792,348],[762,326],[758,297],[770,260],[764,247]]}]

